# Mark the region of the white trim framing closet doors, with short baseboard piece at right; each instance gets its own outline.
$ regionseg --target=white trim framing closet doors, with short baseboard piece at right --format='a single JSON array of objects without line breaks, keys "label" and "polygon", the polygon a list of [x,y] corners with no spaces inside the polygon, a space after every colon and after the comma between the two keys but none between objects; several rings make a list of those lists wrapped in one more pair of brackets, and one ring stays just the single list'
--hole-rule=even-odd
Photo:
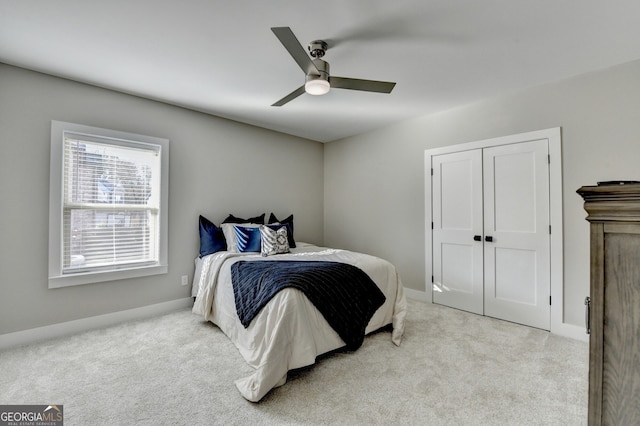
[{"label": "white trim framing closet doors, with short baseboard piece at right", "polygon": [[563,230],[562,230],[562,149],[561,128],[538,130],[503,136],[492,139],[479,140],[458,145],[432,148],[424,152],[425,165],[425,292],[427,300],[433,303],[431,276],[433,274],[433,246],[431,222],[432,190],[431,173],[432,157],[441,154],[482,149],[500,145],[514,144],[540,139],[549,141],[549,220],[551,224],[550,253],[551,253],[551,325],[550,331],[555,334],[573,338],[582,338],[579,331],[582,328],[564,323],[564,261],[563,261]]}]

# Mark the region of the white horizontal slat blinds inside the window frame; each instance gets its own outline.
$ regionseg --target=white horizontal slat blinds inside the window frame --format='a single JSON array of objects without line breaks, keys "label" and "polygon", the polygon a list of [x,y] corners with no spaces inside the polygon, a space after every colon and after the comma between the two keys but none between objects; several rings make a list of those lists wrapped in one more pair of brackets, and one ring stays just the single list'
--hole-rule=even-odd
[{"label": "white horizontal slat blinds inside the window frame", "polygon": [[62,273],[154,265],[161,146],[64,136]]}]

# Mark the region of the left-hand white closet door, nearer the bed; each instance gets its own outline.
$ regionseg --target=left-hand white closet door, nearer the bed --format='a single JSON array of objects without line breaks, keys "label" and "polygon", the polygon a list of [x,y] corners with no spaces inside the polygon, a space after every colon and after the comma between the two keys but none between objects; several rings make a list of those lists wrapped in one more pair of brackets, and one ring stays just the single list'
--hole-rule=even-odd
[{"label": "left-hand white closet door, nearer the bed", "polygon": [[483,313],[482,151],[433,157],[433,301]]}]

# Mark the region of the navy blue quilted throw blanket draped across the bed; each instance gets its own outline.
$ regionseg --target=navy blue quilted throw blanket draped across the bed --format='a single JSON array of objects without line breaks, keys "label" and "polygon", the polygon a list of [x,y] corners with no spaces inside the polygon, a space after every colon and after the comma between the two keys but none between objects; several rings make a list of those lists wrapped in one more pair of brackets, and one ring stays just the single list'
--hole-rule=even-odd
[{"label": "navy blue quilted throw blanket draped across the bed", "polygon": [[385,301],[364,271],[339,262],[243,260],[231,266],[231,280],[245,328],[278,291],[293,287],[307,296],[349,350],[362,345],[369,320]]}]

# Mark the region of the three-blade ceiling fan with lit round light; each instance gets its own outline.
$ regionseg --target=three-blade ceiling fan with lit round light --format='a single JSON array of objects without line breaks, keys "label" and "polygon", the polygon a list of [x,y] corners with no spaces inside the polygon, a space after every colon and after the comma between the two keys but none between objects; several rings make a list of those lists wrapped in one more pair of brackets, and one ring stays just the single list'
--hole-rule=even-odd
[{"label": "three-blade ceiling fan with lit round light", "polygon": [[289,93],[271,106],[282,106],[302,95],[324,95],[330,88],[363,90],[365,92],[391,93],[396,83],[388,81],[361,80],[358,78],[335,77],[329,74],[329,63],[321,58],[327,51],[328,45],[322,40],[309,43],[309,58],[307,52],[289,27],[274,27],[271,31],[278,37],[285,49],[302,68],[305,74],[305,84]]}]

